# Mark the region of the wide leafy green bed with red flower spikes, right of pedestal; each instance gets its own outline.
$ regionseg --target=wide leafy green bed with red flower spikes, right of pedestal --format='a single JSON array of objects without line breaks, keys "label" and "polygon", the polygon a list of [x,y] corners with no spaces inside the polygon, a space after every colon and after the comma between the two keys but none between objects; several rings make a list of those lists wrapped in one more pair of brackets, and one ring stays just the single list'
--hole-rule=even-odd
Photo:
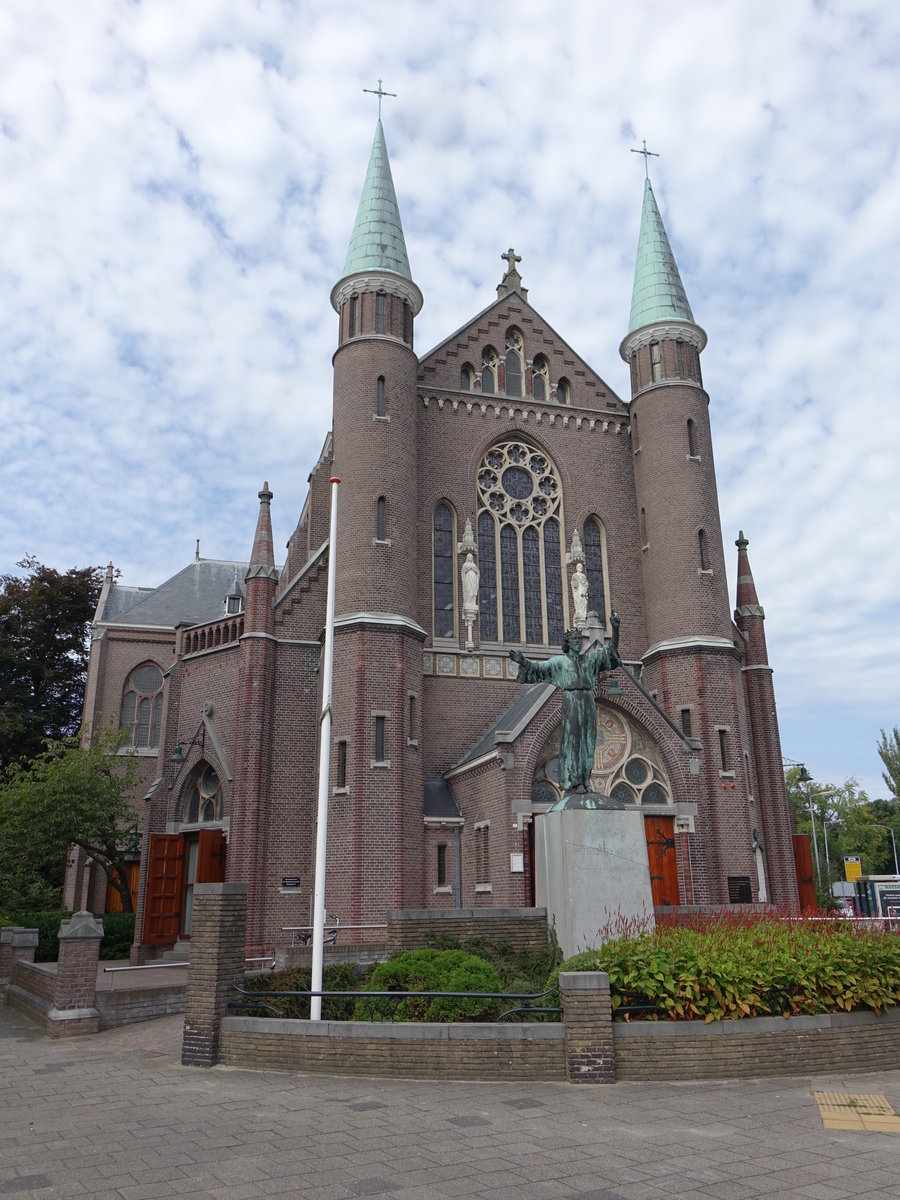
[{"label": "wide leafy green bed with red flower spikes, right of pedestal", "polygon": [[[900,1002],[900,937],[852,922],[721,914],[659,924],[575,955],[559,971],[606,971],[618,1020],[794,1016]],[[654,1006],[630,1013],[631,1006]]]}]

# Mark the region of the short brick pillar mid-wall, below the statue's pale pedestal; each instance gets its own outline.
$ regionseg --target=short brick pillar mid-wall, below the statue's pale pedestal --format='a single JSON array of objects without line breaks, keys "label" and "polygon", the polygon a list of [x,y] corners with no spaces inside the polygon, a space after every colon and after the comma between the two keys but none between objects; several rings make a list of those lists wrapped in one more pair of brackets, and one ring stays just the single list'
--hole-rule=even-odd
[{"label": "short brick pillar mid-wall, below the statue's pale pedestal", "polygon": [[565,1025],[569,1082],[614,1084],[608,974],[605,971],[560,971],[559,1003]]}]

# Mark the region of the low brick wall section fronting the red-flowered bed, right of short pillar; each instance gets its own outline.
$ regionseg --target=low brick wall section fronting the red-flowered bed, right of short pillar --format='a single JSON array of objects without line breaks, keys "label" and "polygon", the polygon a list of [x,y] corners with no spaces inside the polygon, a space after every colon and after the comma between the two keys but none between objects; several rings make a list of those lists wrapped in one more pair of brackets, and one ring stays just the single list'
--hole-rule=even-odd
[{"label": "low brick wall section fronting the red-flowered bed, right of short pillar", "polygon": [[900,1008],[883,1016],[634,1021],[612,1027],[616,1080],[750,1079],[900,1068]]}]

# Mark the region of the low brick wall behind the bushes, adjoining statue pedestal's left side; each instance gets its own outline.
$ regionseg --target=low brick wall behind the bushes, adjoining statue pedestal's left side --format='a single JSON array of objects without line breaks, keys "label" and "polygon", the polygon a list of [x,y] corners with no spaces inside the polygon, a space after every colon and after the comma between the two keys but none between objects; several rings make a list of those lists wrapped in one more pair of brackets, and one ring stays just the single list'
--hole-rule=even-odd
[{"label": "low brick wall behind the bushes, adjoining statue pedestal's left side", "polygon": [[484,937],[506,941],[520,949],[547,944],[546,908],[395,908],[388,913],[388,948],[391,954],[419,950],[432,937],[467,942]]}]

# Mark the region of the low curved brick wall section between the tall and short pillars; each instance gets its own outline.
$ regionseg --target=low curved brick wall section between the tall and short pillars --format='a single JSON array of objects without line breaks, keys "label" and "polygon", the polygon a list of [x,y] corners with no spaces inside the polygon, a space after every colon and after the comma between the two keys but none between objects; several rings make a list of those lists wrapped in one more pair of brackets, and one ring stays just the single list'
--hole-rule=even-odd
[{"label": "low curved brick wall section between the tall and short pillars", "polygon": [[370,1025],[227,1016],[230,1067],[395,1079],[564,1080],[562,1025]]}]

